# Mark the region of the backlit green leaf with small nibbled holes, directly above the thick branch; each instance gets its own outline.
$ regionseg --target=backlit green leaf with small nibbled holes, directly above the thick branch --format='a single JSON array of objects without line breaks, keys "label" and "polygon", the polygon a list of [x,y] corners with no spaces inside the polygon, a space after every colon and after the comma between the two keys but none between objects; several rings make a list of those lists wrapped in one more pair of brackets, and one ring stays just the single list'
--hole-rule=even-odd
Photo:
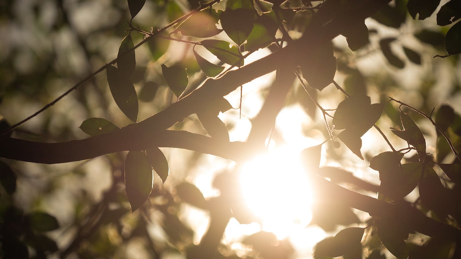
[{"label": "backlit green leaf with small nibbled holes, directly above the thick branch", "polygon": [[236,46],[225,40],[202,40],[201,45],[224,63],[237,67],[243,66],[243,56]]}]

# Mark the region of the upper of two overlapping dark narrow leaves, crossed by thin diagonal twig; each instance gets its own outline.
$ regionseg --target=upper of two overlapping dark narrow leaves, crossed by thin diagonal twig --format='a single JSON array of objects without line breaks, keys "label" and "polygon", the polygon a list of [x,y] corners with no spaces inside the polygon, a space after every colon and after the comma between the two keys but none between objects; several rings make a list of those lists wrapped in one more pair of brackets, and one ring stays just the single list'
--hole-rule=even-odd
[{"label": "upper of two overlapping dark narrow leaves, crossed by thin diagonal twig", "polygon": [[129,51],[134,47],[133,40],[131,39],[131,35],[127,35],[120,43],[120,47],[118,48],[118,55],[117,55],[117,67],[118,73],[120,77],[129,79],[131,75],[135,72],[136,68],[136,55],[135,51]]}]

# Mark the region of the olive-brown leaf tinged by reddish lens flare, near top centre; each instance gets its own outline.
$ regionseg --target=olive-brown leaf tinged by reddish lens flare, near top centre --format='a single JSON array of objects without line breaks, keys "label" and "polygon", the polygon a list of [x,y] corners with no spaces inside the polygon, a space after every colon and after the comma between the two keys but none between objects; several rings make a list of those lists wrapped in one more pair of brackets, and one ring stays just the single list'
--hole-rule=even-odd
[{"label": "olive-brown leaf tinged by reddish lens flare, near top centre", "polygon": [[208,38],[219,34],[222,30],[216,28],[218,19],[213,17],[210,12],[215,11],[213,9],[206,9],[194,13],[179,24],[173,33],[181,32],[183,36],[197,38]]}]

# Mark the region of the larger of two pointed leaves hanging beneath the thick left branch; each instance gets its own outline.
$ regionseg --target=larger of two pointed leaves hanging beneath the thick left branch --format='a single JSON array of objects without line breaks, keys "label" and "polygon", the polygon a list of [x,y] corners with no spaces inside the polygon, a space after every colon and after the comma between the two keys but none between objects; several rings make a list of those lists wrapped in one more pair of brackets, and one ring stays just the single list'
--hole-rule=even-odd
[{"label": "larger of two pointed leaves hanging beneath the thick left branch", "polygon": [[146,152],[129,151],[125,158],[125,190],[131,212],[142,206],[153,188],[154,173]]}]

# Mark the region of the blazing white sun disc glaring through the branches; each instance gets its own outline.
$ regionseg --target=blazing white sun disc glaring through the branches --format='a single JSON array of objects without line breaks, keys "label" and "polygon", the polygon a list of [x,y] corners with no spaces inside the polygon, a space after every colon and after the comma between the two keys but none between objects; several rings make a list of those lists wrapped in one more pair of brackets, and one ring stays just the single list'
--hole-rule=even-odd
[{"label": "blazing white sun disc glaring through the branches", "polygon": [[262,230],[279,239],[312,219],[312,193],[299,152],[278,148],[242,167],[240,184],[248,207],[260,218]]}]

